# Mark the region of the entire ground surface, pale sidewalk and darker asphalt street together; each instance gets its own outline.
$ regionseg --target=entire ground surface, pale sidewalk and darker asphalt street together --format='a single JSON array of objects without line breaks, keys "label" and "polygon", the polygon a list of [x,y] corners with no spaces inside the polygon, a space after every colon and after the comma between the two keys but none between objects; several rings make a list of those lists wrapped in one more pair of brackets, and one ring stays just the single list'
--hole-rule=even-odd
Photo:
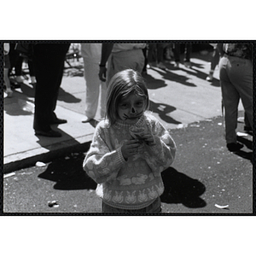
[{"label": "entire ground surface, pale sidewalk and darker asphalt street together", "polygon": [[[150,110],[177,143],[176,160],[162,174],[163,213],[253,212],[253,137],[238,123],[244,148],[235,154],[225,147],[218,67],[212,83],[206,81],[210,58],[210,52],[192,53],[192,68],[176,69],[166,61],[166,70],[153,66],[144,75]],[[66,63],[55,111],[67,119],[54,127],[60,138],[34,135],[31,84],[25,81],[12,98],[4,98],[3,212],[100,212],[96,184],[81,170],[95,129],[95,122],[81,122],[86,86],[81,61]],[[239,110],[243,116],[241,105]]]}]

